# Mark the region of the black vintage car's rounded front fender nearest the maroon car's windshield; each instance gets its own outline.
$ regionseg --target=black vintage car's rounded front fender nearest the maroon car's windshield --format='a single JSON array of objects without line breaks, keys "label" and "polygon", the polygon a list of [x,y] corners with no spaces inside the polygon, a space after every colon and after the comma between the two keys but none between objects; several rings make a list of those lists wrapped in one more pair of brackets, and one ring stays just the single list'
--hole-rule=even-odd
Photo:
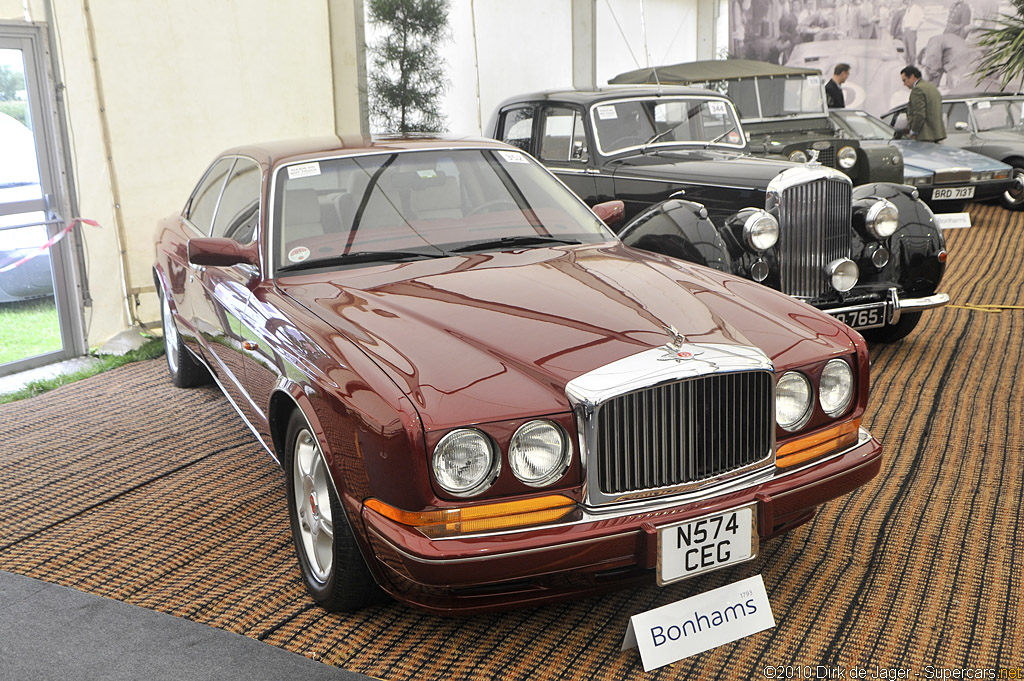
[{"label": "black vintage car's rounded front fender nearest the maroon car's windshield", "polygon": [[627,246],[732,272],[723,233],[692,201],[670,199],[633,218],[620,232]]}]

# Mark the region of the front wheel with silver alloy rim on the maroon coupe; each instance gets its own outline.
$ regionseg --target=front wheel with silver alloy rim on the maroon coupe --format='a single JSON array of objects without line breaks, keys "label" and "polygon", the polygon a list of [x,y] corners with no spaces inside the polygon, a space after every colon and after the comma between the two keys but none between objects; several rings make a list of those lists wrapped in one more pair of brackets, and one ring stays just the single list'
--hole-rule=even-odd
[{"label": "front wheel with silver alloy rim on the maroon coupe", "polygon": [[332,612],[379,601],[383,593],[352,537],[319,443],[297,410],[288,420],[283,463],[292,540],[310,595]]}]

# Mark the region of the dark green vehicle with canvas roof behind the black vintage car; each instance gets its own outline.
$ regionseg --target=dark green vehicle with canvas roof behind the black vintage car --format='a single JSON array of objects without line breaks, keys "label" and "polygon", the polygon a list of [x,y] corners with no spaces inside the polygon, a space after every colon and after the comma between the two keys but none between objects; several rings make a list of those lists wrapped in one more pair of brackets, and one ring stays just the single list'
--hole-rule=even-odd
[{"label": "dark green vehicle with canvas roof behind the black vintage car", "polygon": [[854,184],[903,181],[903,161],[894,148],[836,134],[816,69],[714,59],[639,69],[609,82],[711,87],[735,102],[752,154],[804,163],[816,152],[819,163],[842,170]]}]

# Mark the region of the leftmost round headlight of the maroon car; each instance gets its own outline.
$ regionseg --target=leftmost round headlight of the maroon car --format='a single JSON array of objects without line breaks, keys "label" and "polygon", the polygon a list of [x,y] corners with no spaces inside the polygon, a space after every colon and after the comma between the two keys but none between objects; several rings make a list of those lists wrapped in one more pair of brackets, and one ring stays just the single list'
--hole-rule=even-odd
[{"label": "leftmost round headlight of the maroon car", "polygon": [[472,497],[490,486],[499,463],[490,438],[474,428],[453,430],[434,448],[434,477],[457,497]]}]

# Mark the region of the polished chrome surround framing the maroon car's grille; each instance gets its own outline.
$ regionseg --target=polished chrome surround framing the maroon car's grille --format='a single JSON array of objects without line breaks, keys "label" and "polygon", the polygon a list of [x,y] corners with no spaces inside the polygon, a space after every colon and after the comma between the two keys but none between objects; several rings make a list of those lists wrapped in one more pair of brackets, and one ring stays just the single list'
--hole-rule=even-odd
[{"label": "polished chrome surround framing the maroon car's grille", "polygon": [[[692,358],[676,359],[682,350],[693,352]],[[624,357],[569,381],[565,396],[575,415],[579,452],[583,467],[583,498],[587,506],[603,506],[652,496],[678,495],[693,490],[714,487],[725,480],[767,469],[774,464],[775,428],[771,428],[769,452],[758,461],[743,468],[721,475],[678,485],[633,491],[620,495],[601,492],[598,470],[590,461],[597,456],[598,410],[610,399],[636,390],[655,388],[686,379],[713,374],[763,371],[774,373],[774,365],[761,348],[721,343],[683,343],[681,346],[662,346]],[[774,424],[774,400],[771,403]]]}]

